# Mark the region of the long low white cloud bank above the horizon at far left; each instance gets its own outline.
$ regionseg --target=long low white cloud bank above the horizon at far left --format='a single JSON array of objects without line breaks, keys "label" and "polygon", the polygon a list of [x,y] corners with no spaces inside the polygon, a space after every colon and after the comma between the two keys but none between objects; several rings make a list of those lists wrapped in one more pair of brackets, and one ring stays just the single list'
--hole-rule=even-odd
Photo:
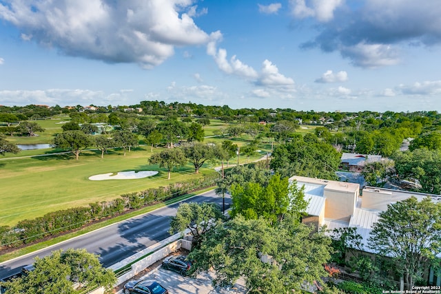
[{"label": "long low white cloud bank above the horizon at far left", "polygon": [[48,90],[2,90],[0,101],[5,105],[108,105],[112,103],[124,103],[127,94],[132,90],[120,90],[119,92],[105,94],[103,91],[82,89],[48,89]]}]

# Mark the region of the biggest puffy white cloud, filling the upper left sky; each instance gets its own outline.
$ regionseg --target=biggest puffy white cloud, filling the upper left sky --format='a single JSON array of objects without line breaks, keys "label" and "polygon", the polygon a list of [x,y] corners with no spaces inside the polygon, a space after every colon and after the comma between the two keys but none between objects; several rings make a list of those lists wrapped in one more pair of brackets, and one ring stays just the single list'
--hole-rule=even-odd
[{"label": "biggest puffy white cloud, filling the upper left sky", "polygon": [[151,68],[172,56],[175,46],[209,41],[192,19],[192,2],[12,0],[0,3],[0,19],[19,28],[23,40],[63,54]]}]

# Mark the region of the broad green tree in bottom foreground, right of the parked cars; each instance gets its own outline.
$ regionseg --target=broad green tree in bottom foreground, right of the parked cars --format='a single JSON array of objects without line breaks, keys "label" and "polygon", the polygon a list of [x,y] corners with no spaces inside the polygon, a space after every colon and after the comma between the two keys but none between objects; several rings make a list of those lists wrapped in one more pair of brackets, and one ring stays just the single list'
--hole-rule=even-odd
[{"label": "broad green tree in bottom foreground, right of the parked cars", "polygon": [[291,293],[325,276],[329,238],[287,217],[276,226],[238,216],[218,222],[189,253],[196,271],[216,271],[214,284],[232,286],[243,277],[250,293]]}]

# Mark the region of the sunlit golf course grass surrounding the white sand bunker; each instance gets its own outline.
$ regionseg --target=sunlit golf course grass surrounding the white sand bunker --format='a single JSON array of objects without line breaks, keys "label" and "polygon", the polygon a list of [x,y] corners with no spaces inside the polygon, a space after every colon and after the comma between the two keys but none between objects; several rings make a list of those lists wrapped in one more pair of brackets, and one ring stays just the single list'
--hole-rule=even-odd
[{"label": "sunlit golf course grass surrounding the white sand bunker", "polygon": [[[0,225],[14,225],[50,211],[111,200],[123,193],[201,176],[187,165],[172,173],[171,180],[167,180],[164,170],[143,179],[88,180],[96,174],[158,170],[157,166],[148,164],[150,155],[150,147],[139,147],[126,156],[122,151],[110,151],[103,159],[99,151],[85,151],[79,160],[74,160],[71,154],[0,160]],[[201,169],[201,174],[213,172],[213,169]]]}]

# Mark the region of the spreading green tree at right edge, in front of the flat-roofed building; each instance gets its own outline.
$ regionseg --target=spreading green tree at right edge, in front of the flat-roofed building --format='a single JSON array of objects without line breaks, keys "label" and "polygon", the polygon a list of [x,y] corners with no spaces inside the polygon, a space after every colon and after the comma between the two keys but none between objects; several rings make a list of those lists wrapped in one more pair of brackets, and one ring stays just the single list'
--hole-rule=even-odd
[{"label": "spreading green tree at right edge, in front of the flat-roofed building", "polygon": [[426,266],[440,262],[441,203],[429,197],[418,201],[412,196],[389,204],[373,224],[369,247],[393,258],[407,289],[412,289]]}]

